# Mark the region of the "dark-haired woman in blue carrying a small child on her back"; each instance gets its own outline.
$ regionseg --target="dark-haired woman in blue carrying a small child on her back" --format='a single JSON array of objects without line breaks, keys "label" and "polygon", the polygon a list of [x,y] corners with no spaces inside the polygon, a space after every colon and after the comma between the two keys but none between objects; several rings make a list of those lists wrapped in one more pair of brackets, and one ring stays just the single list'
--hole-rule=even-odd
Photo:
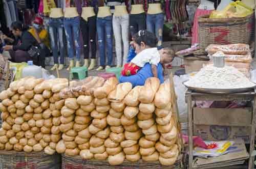
[{"label": "dark-haired woman in blue carrying a small child on her back", "polygon": [[[133,43],[132,46],[133,48],[130,49],[129,55],[127,57],[127,62],[131,62],[131,60],[136,56],[136,53],[140,53],[144,49],[152,48],[157,46],[157,38],[155,37],[154,34],[148,32],[148,31],[143,31],[142,33],[135,34],[133,37]],[[157,76],[160,80],[161,83],[164,82],[163,79],[163,67],[159,63],[157,65]],[[147,63],[145,64],[144,67],[142,67],[137,74],[131,75],[131,76],[120,76],[119,82],[131,82],[133,87],[135,86],[143,86],[146,79],[149,77],[154,77],[153,72],[152,72],[152,67],[151,64]]]}]

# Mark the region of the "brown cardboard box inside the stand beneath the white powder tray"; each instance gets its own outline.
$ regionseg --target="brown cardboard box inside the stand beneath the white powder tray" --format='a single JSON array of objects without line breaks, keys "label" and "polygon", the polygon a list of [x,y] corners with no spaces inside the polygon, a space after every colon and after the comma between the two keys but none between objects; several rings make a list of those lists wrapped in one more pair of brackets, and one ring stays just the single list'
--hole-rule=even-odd
[{"label": "brown cardboard box inside the stand beneath the white powder tray", "polygon": [[193,108],[194,135],[205,140],[242,138],[250,143],[250,108]]}]

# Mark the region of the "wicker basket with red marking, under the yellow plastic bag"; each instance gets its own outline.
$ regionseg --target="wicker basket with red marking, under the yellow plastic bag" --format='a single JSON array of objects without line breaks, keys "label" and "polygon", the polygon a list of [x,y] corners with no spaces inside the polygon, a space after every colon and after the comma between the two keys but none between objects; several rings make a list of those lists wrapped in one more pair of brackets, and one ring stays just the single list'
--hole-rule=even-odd
[{"label": "wicker basket with red marking, under the yellow plastic bag", "polygon": [[200,49],[194,54],[205,54],[205,48],[210,44],[250,44],[250,41],[254,41],[254,22],[254,13],[242,18],[210,19],[209,15],[199,17]]}]

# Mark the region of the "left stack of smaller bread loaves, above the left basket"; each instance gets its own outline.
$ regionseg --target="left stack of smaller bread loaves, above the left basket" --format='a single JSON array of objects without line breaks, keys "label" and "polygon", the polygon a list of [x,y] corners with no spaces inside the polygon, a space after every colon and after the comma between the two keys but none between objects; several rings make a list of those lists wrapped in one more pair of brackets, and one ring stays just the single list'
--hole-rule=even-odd
[{"label": "left stack of smaller bread loaves, above the left basket", "polygon": [[[0,110],[3,125],[0,133],[0,149],[15,151],[55,152],[54,146],[61,133],[55,126],[60,121],[54,117],[55,105],[62,107],[58,93],[52,87],[68,82],[67,79],[35,79],[26,77],[10,84],[10,88],[0,93]],[[52,132],[53,131],[53,132]],[[50,147],[51,146],[51,147]]]}]

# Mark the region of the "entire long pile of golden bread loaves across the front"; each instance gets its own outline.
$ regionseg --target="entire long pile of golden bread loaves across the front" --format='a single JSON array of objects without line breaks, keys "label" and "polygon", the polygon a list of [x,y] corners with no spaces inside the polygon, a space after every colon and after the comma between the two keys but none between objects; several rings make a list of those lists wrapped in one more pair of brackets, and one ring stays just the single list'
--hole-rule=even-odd
[{"label": "entire long pile of golden bread loaves across the front", "polygon": [[[69,87],[68,87],[69,85]],[[0,93],[0,149],[173,165],[179,155],[169,83],[132,89],[116,78],[76,82],[26,77]]]}]

